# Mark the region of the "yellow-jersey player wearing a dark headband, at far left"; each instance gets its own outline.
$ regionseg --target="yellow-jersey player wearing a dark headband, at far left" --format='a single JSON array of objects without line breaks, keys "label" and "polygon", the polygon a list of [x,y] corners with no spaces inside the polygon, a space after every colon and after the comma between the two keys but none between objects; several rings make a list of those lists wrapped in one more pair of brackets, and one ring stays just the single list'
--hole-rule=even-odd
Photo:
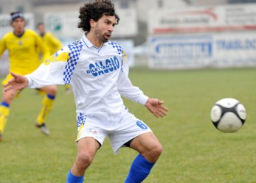
[{"label": "yellow-jersey player wearing a dark headband, at far left", "polygon": [[[26,21],[24,15],[21,12],[11,13],[13,32],[8,32],[0,40],[0,57],[5,50],[9,53],[10,68],[9,74],[6,76],[2,85],[12,78],[10,72],[20,73],[25,75],[32,73],[41,64],[38,56],[40,49],[43,57],[49,57],[49,49],[45,46],[41,37],[30,29],[25,29]],[[53,101],[57,93],[56,86],[46,86],[40,88],[46,93],[42,102],[41,112],[38,115],[35,126],[41,129],[41,131],[49,135],[49,130],[44,123],[46,116],[52,108]],[[15,98],[13,91],[3,92],[3,98],[0,104],[0,141],[2,140],[2,134],[4,132],[4,126],[7,123],[7,118],[10,113],[10,104]]]}]

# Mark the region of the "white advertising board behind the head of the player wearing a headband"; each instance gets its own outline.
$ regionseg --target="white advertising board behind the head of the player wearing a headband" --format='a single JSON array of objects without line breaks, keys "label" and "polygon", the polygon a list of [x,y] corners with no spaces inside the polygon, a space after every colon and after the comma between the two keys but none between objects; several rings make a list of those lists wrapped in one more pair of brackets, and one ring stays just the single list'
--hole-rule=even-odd
[{"label": "white advertising board behind the head of the player wearing a headband", "polygon": [[[32,13],[24,13],[24,17],[26,19],[26,28],[34,29],[34,15]],[[0,38],[3,37],[7,32],[13,31],[11,26],[11,18],[9,14],[0,14]]]}]

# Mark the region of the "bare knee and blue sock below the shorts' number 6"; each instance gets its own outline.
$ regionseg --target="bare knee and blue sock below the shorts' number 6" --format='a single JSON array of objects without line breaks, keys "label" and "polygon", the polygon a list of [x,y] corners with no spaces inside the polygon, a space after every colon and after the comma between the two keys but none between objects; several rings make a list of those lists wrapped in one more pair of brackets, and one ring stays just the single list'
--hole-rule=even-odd
[{"label": "bare knee and blue sock below the shorts' number 6", "polygon": [[134,159],[125,183],[139,183],[147,178],[151,168],[159,159],[162,145],[153,132],[147,132],[131,140],[129,146],[138,151],[139,155]]}]

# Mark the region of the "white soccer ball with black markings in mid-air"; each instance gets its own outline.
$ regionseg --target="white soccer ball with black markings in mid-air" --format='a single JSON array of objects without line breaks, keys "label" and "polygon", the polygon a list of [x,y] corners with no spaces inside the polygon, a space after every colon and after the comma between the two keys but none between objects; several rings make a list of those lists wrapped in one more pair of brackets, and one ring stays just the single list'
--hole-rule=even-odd
[{"label": "white soccer ball with black markings in mid-air", "polygon": [[223,98],[212,107],[211,120],[221,132],[236,132],[246,121],[246,109],[234,98]]}]

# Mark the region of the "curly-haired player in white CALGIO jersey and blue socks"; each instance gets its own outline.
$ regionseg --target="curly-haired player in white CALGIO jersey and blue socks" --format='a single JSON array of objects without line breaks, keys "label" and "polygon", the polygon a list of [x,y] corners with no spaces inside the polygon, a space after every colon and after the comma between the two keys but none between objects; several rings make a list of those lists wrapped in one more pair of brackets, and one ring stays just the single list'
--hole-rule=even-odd
[{"label": "curly-haired player in white CALGIO jersey and blue socks", "polygon": [[122,47],[109,41],[120,18],[108,0],[80,7],[78,28],[85,34],[45,60],[33,73],[13,79],[5,91],[46,85],[72,85],[77,107],[77,156],[66,182],[83,182],[84,173],[105,137],[114,153],[129,147],[139,154],[132,162],[126,183],[142,182],[162,153],[150,127],[125,107],[121,96],[136,101],[156,117],[167,115],[164,101],[149,98],[128,79],[128,62]]}]

